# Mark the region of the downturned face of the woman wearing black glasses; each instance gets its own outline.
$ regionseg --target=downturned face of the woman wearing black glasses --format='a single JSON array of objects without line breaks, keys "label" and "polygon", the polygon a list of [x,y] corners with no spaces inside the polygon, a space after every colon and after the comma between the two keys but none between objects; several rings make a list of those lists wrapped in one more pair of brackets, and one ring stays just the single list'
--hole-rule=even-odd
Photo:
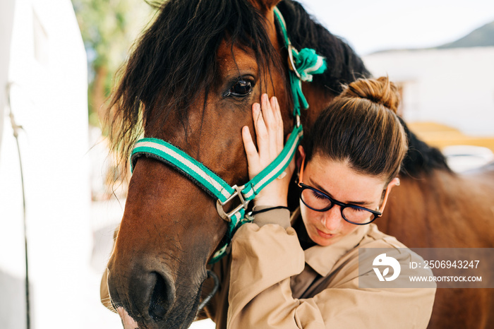
[{"label": "downturned face of the woman wearing black glasses", "polygon": [[[335,162],[319,155],[314,155],[306,164],[301,182],[327,193],[337,201],[371,210],[379,210],[382,191],[385,189],[382,177],[359,174],[346,162]],[[339,205],[318,212],[300,201],[300,210],[308,236],[320,246],[334,244],[359,227],[343,219]]]}]

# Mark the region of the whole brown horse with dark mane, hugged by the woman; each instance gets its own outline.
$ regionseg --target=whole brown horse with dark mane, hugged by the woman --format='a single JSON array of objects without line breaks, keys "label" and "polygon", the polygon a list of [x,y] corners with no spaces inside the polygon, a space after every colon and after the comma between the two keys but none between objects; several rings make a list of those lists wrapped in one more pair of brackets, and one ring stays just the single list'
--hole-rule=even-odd
[{"label": "whole brown horse with dark mane, hugged by the woman", "polygon": [[[253,129],[251,104],[262,92],[276,95],[284,109],[285,134],[294,127],[284,64],[288,54],[275,6],[294,47],[313,48],[327,59],[325,73],[302,83],[310,104],[301,115],[304,133],[342,91],[342,83],[370,76],[347,43],[294,1],[169,0],[135,46],[112,99],[110,136],[121,158],[128,159],[144,134],[169,141],[228,184],[248,181],[240,131],[242,126]],[[407,133],[410,151],[400,174],[402,186],[390,196],[378,225],[411,247],[492,247],[494,193],[481,191],[494,189],[493,168],[454,174],[437,149]],[[475,198],[466,202],[469,196]],[[457,201],[462,205],[452,209]],[[207,286],[207,263],[226,232],[227,223],[206,191],[162,162],[140,157],[107,265],[113,307],[125,310],[139,328],[188,328]],[[462,290],[465,297],[482,296],[474,309],[439,289],[431,328],[492,326],[494,303],[480,290]],[[219,314],[208,316],[221,321]]]}]

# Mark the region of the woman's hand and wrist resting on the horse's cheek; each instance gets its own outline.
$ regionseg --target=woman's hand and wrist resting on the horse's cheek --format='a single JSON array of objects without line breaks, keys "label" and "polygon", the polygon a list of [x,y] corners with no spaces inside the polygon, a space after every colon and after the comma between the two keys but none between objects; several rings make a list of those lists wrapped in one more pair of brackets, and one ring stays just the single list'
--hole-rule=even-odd
[{"label": "woman's hand and wrist resting on the horse's cheek", "polygon": [[[242,128],[250,179],[276,159],[284,144],[282,114],[276,97],[269,100],[267,94],[261,95],[260,104],[252,105],[252,115],[258,149],[255,148],[248,126]],[[254,205],[287,206],[288,186],[294,169],[295,162],[292,160],[284,170],[286,174],[280,175],[255,196]]]}]

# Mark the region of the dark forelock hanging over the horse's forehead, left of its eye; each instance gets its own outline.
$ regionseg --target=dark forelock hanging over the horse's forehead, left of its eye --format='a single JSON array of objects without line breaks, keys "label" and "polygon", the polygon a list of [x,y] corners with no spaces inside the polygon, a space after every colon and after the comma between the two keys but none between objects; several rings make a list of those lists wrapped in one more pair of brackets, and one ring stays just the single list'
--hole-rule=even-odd
[{"label": "dark forelock hanging over the horse's forehead, left of its eye", "polygon": [[[136,42],[112,95],[107,115],[112,150],[122,162],[143,133],[145,122],[174,114],[186,126],[188,110],[218,76],[216,55],[223,40],[252,49],[260,71],[277,63],[267,21],[248,0],[169,0]],[[280,64],[281,65],[281,64]]]}]

